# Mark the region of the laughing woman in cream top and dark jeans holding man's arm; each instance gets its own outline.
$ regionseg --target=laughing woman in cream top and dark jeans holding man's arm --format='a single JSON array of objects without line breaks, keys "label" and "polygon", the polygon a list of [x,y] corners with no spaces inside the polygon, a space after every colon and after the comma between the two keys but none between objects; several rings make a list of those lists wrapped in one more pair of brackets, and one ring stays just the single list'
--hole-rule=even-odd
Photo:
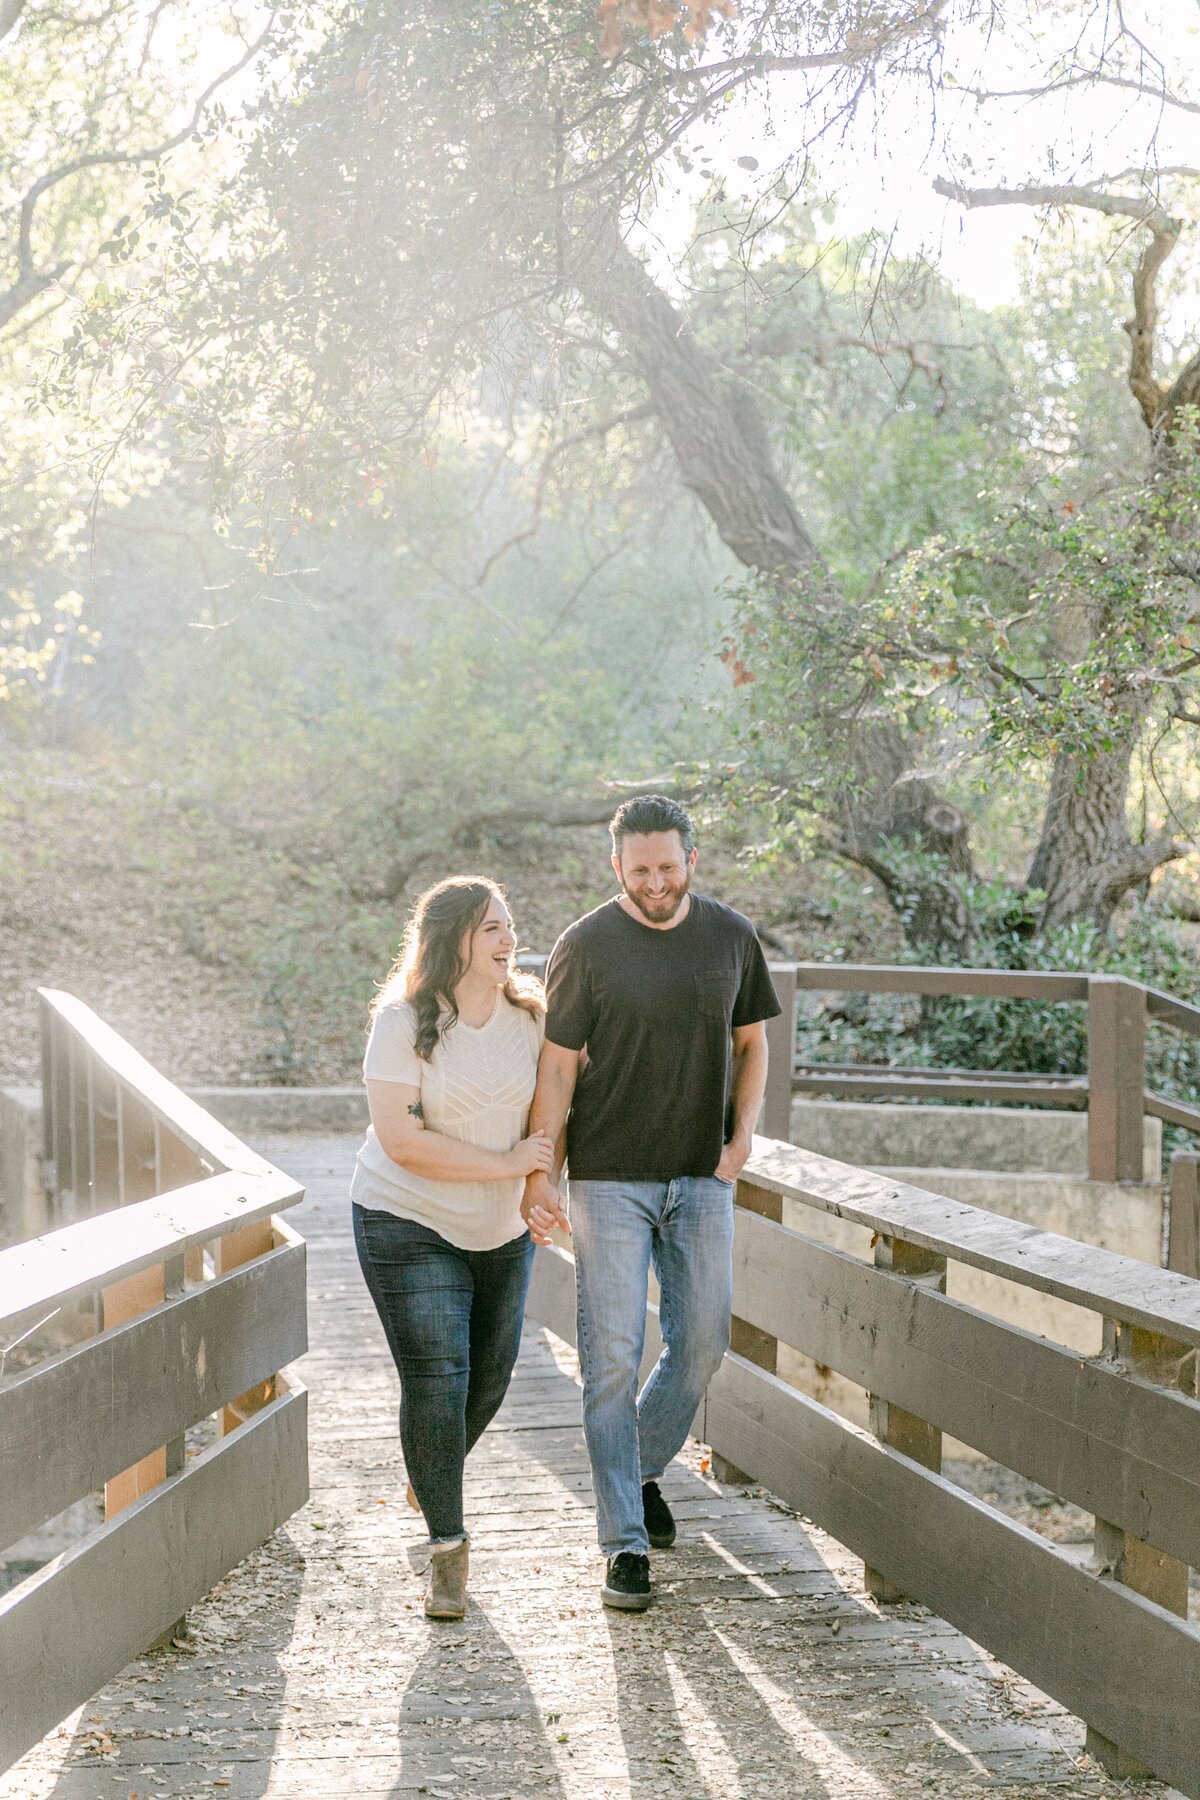
[{"label": "laughing woman in cream top and dark jeans holding man's arm", "polygon": [[371,1129],[354,1244],[399,1373],[408,1501],[425,1514],[425,1611],[462,1618],[462,1463],[495,1417],[520,1345],[533,1242],[524,1177],[554,1145],[525,1136],[545,1001],[513,970],[504,893],[453,877],[421,895],[372,1006]]}]

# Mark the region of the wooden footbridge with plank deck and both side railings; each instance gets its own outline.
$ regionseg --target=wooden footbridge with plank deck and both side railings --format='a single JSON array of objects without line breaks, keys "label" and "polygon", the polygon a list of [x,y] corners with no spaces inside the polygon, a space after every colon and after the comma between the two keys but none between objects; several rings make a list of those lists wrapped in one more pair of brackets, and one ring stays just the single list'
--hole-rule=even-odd
[{"label": "wooden footbridge with plank deck and both side railings", "polygon": [[[551,1249],[468,1471],[473,1606],[434,1627],[356,1141],[250,1150],[65,995],[45,1071],[61,1222],[0,1253],[0,1541],[101,1483],[108,1517],[0,1597],[0,1800],[1115,1796],[1148,1769],[1200,1796],[1189,1276],[763,1139],[655,1607],[597,1604]],[[955,1264],[1094,1312],[1105,1352],[948,1298]],[[779,1345],[869,1390],[871,1431]],[[943,1433],[1090,1512],[1092,1562],[943,1478]]]}]

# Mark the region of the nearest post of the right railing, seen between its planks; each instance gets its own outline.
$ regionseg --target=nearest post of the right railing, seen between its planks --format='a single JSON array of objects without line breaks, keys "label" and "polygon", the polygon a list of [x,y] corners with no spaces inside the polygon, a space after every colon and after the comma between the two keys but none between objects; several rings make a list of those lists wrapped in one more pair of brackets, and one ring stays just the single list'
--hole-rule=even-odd
[{"label": "nearest post of the right railing, seen between its planks", "polygon": [[[1160,1388],[1196,1391],[1196,1352],[1175,1337],[1150,1332],[1137,1325],[1105,1319],[1105,1355],[1119,1368]],[[1096,1519],[1094,1562],[1099,1575],[1110,1575],[1124,1588],[1187,1618],[1187,1564],[1168,1557],[1162,1550],[1123,1532],[1106,1519]],[[1144,1780],[1153,1775],[1137,1757],[1132,1757],[1112,1739],[1087,1728],[1087,1751],[1117,1780]]]}]

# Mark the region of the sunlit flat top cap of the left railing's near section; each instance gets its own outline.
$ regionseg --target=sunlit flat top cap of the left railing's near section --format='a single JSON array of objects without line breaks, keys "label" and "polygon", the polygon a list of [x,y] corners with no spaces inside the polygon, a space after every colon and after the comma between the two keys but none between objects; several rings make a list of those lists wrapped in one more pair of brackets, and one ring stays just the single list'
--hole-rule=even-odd
[{"label": "sunlit flat top cap of the left railing's near section", "polygon": [[[27,1244],[0,1251],[0,1328],[9,1336],[74,1296],[180,1256],[225,1231],[295,1206],[304,1190],[281,1170],[209,1175],[189,1188],[139,1201],[112,1213],[81,1219]],[[14,1332],[13,1332],[14,1336]]]}]

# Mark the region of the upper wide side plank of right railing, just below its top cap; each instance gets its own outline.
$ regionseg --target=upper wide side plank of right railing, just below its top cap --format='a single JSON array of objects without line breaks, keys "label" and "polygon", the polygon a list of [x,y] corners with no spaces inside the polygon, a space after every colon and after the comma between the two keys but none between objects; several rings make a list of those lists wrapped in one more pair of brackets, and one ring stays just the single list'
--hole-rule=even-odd
[{"label": "upper wide side plank of right railing, just below its top cap", "polygon": [[1200,1402],[738,1213],[734,1307],[1006,1469],[1200,1564]]}]

